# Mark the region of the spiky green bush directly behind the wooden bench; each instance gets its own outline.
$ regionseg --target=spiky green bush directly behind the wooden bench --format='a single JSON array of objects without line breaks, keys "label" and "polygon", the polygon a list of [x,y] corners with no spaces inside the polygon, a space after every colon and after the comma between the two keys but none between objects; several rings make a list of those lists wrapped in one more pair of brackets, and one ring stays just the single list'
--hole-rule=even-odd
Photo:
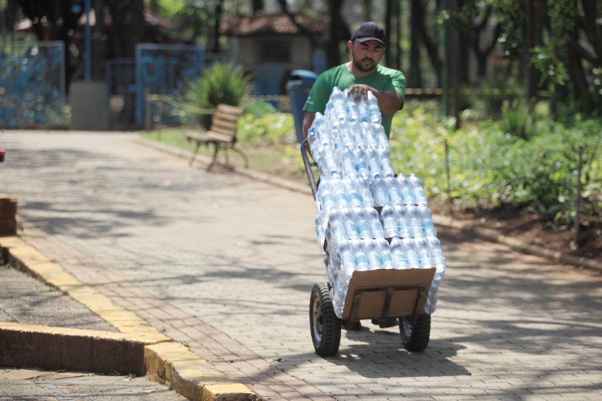
[{"label": "spiky green bush directly behind the wooden bench", "polygon": [[[187,102],[202,109],[215,108],[220,103],[240,106],[249,97],[250,76],[244,75],[243,66],[215,63],[205,70],[205,75],[188,82]],[[209,128],[211,115],[199,114],[200,124]]]}]

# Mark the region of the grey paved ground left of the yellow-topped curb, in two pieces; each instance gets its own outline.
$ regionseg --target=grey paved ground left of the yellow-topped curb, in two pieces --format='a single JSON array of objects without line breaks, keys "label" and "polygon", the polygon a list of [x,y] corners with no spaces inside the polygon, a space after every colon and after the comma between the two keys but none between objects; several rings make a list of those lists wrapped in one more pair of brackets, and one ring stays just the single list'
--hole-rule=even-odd
[{"label": "grey paved ground left of the yellow-topped curb, in two pieces", "polygon": [[[0,265],[0,321],[117,331],[79,302]],[[147,378],[0,367],[0,401],[184,401]]]}]

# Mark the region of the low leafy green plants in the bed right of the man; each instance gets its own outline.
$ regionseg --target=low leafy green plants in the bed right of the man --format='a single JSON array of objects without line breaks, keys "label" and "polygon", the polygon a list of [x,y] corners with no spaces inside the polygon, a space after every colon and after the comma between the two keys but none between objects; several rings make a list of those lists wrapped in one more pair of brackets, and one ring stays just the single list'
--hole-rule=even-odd
[{"label": "low leafy green plants in the bed right of the man", "polygon": [[[462,207],[510,204],[533,207],[556,222],[574,213],[577,148],[585,147],[582,213],[602,212],[601,120],[571,126],[538,121],[529,141],[492,121],[453,131],[438,116],[411,103],[393,121],[391,159],[396,171],[416,173],[429,195],[447,196],[445,147],[449,144],[451,196]],[[544,107],[531,114],[545,113]]]}]

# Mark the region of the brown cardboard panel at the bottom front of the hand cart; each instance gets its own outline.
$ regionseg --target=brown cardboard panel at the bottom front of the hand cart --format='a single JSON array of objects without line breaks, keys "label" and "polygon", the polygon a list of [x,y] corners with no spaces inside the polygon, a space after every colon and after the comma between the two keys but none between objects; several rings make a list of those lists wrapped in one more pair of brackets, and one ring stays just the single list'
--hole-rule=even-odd
[{"label": "brown cardboard panel at the bottom front of the hand cart", "polygon": [[[355,271],[349,281],[349,289],[343,308],[343,319],[349,319],[353,299],[358,287],[382,287],[376,292],[362,292],[358,305],[357,319],[377,319],[382,317],[388,287],[424,285],[425,293],[418,304],[418,313],[423,313],[426,295],[435,276],[435,268],[430,269],[386,269]],[[391,296],[388,317],[411,316],[418,297],[418,290],[396,290]]]}]

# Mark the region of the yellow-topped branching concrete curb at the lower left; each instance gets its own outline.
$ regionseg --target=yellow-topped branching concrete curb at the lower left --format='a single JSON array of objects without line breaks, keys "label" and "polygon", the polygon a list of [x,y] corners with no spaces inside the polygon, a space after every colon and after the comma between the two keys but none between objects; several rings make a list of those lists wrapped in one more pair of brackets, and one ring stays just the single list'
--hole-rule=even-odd
[{"label": "yellow-topped branching concrete curb at the lower left", "polygon": [[0,237],[4,262],[61,290],[120,333],[0,322],[0,366],[43,367],[151,376],[194,401],[255,401],[259,397],[137,314],[113,304],[15,236]]}]

